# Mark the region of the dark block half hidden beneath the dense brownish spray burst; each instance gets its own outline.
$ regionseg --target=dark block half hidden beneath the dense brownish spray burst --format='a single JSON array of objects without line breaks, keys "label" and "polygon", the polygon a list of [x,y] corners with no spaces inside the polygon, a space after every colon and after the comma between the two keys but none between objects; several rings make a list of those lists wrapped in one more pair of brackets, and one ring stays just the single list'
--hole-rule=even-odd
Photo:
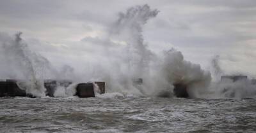
[{"label": "dark block half hidden beneath the dense brownish spray burst", "polygon": [[182,83],[175,83],[173,92],[176,97],[189,97],[187,86]]}]

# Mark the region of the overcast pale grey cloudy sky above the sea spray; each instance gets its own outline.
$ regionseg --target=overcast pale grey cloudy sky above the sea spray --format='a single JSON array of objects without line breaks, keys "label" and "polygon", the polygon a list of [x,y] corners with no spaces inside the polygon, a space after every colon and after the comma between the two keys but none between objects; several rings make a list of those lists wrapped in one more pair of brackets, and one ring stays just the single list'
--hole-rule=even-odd
[{"label": "overcast pale grey cloudy sky above the sea spray", "polygon": [[159,11],[143,25],[152,52],[175,48],[207,70],[219,55],[225,74],[256,76],[255,0],[1,0],[0,32],[21,31],[31,50],[56,66],[64,59],[78,66],[83,57],[97,59],[92,49],[104,45],[120,12],[143,4]]}]

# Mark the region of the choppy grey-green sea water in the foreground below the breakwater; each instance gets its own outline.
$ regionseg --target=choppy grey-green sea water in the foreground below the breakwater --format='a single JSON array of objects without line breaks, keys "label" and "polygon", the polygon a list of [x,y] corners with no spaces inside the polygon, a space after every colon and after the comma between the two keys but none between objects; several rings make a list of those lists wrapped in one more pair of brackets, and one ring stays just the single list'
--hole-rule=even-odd
[{"label": "choppy grey-green sea water in the foreground below the breakwater", "polygon": [[1,132],[256,132],[256,101],[0,98]]}]

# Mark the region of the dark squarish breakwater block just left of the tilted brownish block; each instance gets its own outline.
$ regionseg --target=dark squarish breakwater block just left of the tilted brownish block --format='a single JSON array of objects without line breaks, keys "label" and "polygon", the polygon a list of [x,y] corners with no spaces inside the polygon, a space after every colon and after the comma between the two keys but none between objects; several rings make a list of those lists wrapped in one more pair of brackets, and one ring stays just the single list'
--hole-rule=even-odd
[{"label": "dark squarish breakwater block just left of the tilted brownish block", "polygon": [[95,97],[93,83],[79,83],[76,87],[78,97]]}]

